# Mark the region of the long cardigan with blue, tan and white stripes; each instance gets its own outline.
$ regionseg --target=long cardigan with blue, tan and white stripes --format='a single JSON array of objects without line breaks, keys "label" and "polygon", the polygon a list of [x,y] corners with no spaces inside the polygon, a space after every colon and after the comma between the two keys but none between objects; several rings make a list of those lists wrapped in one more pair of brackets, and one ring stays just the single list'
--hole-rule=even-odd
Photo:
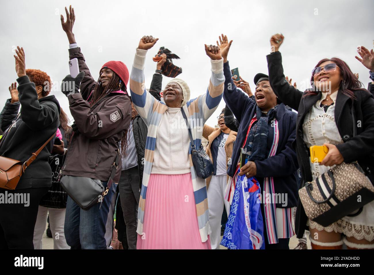
[{"label": "long cardigan with blue, tan and white stripes", "polygon": [[[144,86],[144,61],[147,51],[137,49],[132,65],[130,75],[130,93],[132,102],[135,109],[138,111],[144,122],[148,126],[147,141],[145,144],[144,154],[144,172],[142,180],[142,188],[139,200],[138,209],[138,228],[137,233],[143,235],[143,222],[144,222],[144,209],[147,201],[147,186],[153,164],[153,154],[156,146],[156,134],[160,120],[168,106],[162,101],[157,101],[153,96],[147,92]],[[221,101],[224,88],[224,75],[223,75],[223,59],[211,60],[212,74],[209,81],[209,86],[205,94],[197,98],[191,99],[183,106],[183,109],[188,116],[194,144],[199,148],[201,144],[202,128],[206,120],[217,109]],[[188,137],[187,137],[188,138]],[[176,152],[177,153],[177,152]],[[205,180],[196,176],[192,159],[191,148],[189,150],[189,158],[191,165],[192,186],[194,192],[194,199],[196,204],[197,221],[199,224],[199,232],[201,241],[205,242],[208,235],[211,233],[209,227],[209,210],[208,198],[206,195]]]}]

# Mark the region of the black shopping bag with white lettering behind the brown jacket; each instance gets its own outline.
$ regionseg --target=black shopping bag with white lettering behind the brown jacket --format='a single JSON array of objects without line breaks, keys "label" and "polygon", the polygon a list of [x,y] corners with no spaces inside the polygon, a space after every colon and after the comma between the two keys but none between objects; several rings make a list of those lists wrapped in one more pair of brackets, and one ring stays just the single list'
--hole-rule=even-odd
[{"label": "black shopping bag with white lettering behind the brown jacket", "polygon": [[48,192],[40,200],[39,205],[48,208],[66,208],[68,194],[61,186],[62,165],[64,165],[65,155],[49,156],[49,165],[52,169],[52,185]]}]

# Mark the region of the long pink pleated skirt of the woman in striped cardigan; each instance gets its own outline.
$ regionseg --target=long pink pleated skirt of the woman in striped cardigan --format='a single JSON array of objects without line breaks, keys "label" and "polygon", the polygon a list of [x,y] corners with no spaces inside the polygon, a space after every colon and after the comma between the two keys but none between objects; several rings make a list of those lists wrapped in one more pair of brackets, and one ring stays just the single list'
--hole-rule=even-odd
[{"label": "long pink pleated skirt of the woman in striped cardigan", "polygon": [[201,242],[191,173],[151,174],[137,249],[211,249]]}]

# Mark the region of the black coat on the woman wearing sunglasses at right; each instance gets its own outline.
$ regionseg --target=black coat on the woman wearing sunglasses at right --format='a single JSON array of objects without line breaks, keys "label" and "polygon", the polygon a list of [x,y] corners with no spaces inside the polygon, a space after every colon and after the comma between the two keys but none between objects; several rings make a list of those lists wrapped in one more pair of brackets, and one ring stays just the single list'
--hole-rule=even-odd
[{"label": "black coat on the woman wearing sunglasses at right", "polygon": [[[321,99],[322,93],[305,94],[294,86],[290,86],[283,74],[282,56],[280,52],[267,55],[270,85],[280,100],[298,111],[296,120],[296,144],[294,144],[303,181],[312,181],[310,170],[309,148],[303,140],[303,122],[312,106]],[[374,99],[365,89],[354,92],[356,99],[352,100],[338,91],[335,105],[335,123],[343,144],[336,147],[344,158],[344,162],[358,161],[367,176],[374,182]],[[356,122],[352,119],[352,103],[354,105]],[[353,125],[357,135],[353,137]],[[300,200],[295,221],[296,233],[300,238],[306,229],[307,217]]]}]

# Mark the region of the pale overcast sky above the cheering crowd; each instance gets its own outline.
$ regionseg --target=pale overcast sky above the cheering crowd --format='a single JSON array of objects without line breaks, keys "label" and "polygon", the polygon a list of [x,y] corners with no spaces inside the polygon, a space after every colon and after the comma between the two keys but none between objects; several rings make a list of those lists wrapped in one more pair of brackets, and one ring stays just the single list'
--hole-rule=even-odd
[{"label": "pale overcast sky above the cheering crowd", "polygon": [[[165,46],[180,56],[174,63],[183,68],[178,76],[191,89],[191,98],[205,93],[210,71],[204,44],[214,44],[221,33],[233,40],[229,53],[231,68],[254,91],[253,77],[267,73],[266,55],[270,37],[285,36],[280,51],[286,75],[298,88],[309,85],[310,72],[322,58],[337,56],[348,63],[365,88],[369,74],[355,59],[356,48],[373,48],[373,0],[347,1],[1,1],[1,92],[0,102],[10,98],[8,87],[17,78],[13,49],[22,46],[26,68],[45,71],[58,82],[69,73],[68,40],[62,31],[60,14],[71,4],[76,13],[74,34],[85,55],[92,76],[99,76],[102,64],[123,61],[131,70],[135,48],[143,35],[158,37],[148,51],[145,82],[149,87],[156,63],[152,57]],[[170,80],[163,77],[163,87]],[[68,101],[52,91],[61,107]],[[58,89],[58,91],[56,91]],[[213,126],[225,106],[208,120]]]}]

